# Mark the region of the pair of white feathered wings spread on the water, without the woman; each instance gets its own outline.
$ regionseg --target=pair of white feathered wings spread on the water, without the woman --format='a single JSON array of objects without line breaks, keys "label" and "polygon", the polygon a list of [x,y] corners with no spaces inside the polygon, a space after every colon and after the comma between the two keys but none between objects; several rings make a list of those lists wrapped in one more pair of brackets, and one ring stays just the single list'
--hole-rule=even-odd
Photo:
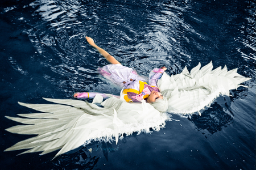
[{"label": "pair of white feathered wings spread on the water, without the woman", "polygon": [[[212,71],[212,62],[200,69],[200,63],[189,73],[187,68],[182,73],[168,76],[163,74],[158,81],[160,92],[168,99],[168,112],[192,114],[198,112],[219,95],[229,95],[229,90],[236,89],[240,83],[249,80],[237,69],[227,71],[218,67]],[[106,94],[108,95],[108,94]],[[24,104],[28,108],[43,113],[18,114],[23,117],[9,117],[10,120],[27,125],[13,126],[7,131],[18,134],[38,134],[16,143],[5,151],[30,149],[27,152],[47,154],[60,150],[56,156],[71,151],[90,141],[111,142],[122,139],[123,134],[133,132],[150,133],[150,128],[160,130],[170,114],[160,113],[152,105],[127,103],[109,95],[102,102],[102,96],[96,95],[93,103],[80,100],[46,99],[55,104]],[[100,103],[98,107],[94,103]]]}]

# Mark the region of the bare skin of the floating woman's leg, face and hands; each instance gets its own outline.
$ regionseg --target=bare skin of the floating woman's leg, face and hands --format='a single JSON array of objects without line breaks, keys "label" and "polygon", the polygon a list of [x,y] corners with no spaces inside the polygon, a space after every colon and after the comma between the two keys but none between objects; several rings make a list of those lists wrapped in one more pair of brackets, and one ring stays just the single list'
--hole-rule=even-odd
[{"label": "bare skin of the floating woman's leg, face and hands", "polygon": [[[87,42],[92,45],[94,48],[96,48],[98,50],[98,52],[106,58],[106,60],[109,62],[109,63],[112,63],[113,65],[116,65],[116,64],[120,64],[120,62],[117,61],[117,59],[115,59],[113,56],[111,56],[108,52],[106,52],[104,49],[100,48],[99,46],[97,46],[93,39],[90,38],[90,37],[85,37]],[[164,71],[167,70],[166,67],[161,67],[161,69],[163,69]],[[77,94],[74,95],[75,98],[77,98]],[[148,96],[147,98],[147,103],[152,103],[152,102],[155,102],[156,99],[163,99],[163,95],[160,94],[160,92],[156,92],[156,91],[151,91],[151,94]]]}]

